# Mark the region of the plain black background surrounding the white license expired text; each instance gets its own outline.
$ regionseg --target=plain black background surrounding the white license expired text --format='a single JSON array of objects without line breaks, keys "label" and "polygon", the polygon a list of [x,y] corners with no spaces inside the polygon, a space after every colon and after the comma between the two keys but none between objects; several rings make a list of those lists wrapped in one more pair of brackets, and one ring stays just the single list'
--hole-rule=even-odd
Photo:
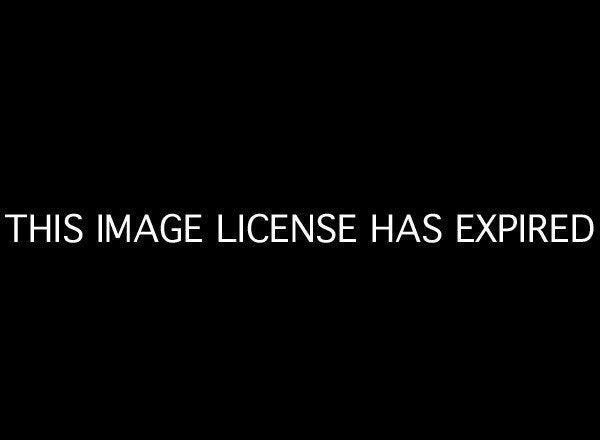
[{"label": "plain black background surrounding the white license expired text", "polygon": [[[597,238],[460,246],[453,218],[597,221],[592,29],[539,11],[247,12],[30,11],[3,55],[2,213],[356,212],[361,243],[5,240],[12,413],[572,429],[594,389]],[[440,245],[368,244],[371,213],[428,212]]]}]

